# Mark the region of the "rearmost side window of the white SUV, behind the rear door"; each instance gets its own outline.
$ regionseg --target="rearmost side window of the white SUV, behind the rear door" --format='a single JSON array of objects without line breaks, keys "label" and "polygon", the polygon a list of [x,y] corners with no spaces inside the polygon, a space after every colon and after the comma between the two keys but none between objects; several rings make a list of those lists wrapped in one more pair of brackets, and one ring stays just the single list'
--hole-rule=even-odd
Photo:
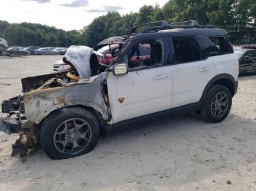
[{"label": "rearmost side window of the white SUV, behind the rear door", "polygon": [[198,36],[200,42],[203,44],[203,47],[206,48],[208,52],[208,56],[215,56],[215,55],[224,55],[232,53],[230,50],[230,45],[228,44],[227,40],[224,36]]}]

